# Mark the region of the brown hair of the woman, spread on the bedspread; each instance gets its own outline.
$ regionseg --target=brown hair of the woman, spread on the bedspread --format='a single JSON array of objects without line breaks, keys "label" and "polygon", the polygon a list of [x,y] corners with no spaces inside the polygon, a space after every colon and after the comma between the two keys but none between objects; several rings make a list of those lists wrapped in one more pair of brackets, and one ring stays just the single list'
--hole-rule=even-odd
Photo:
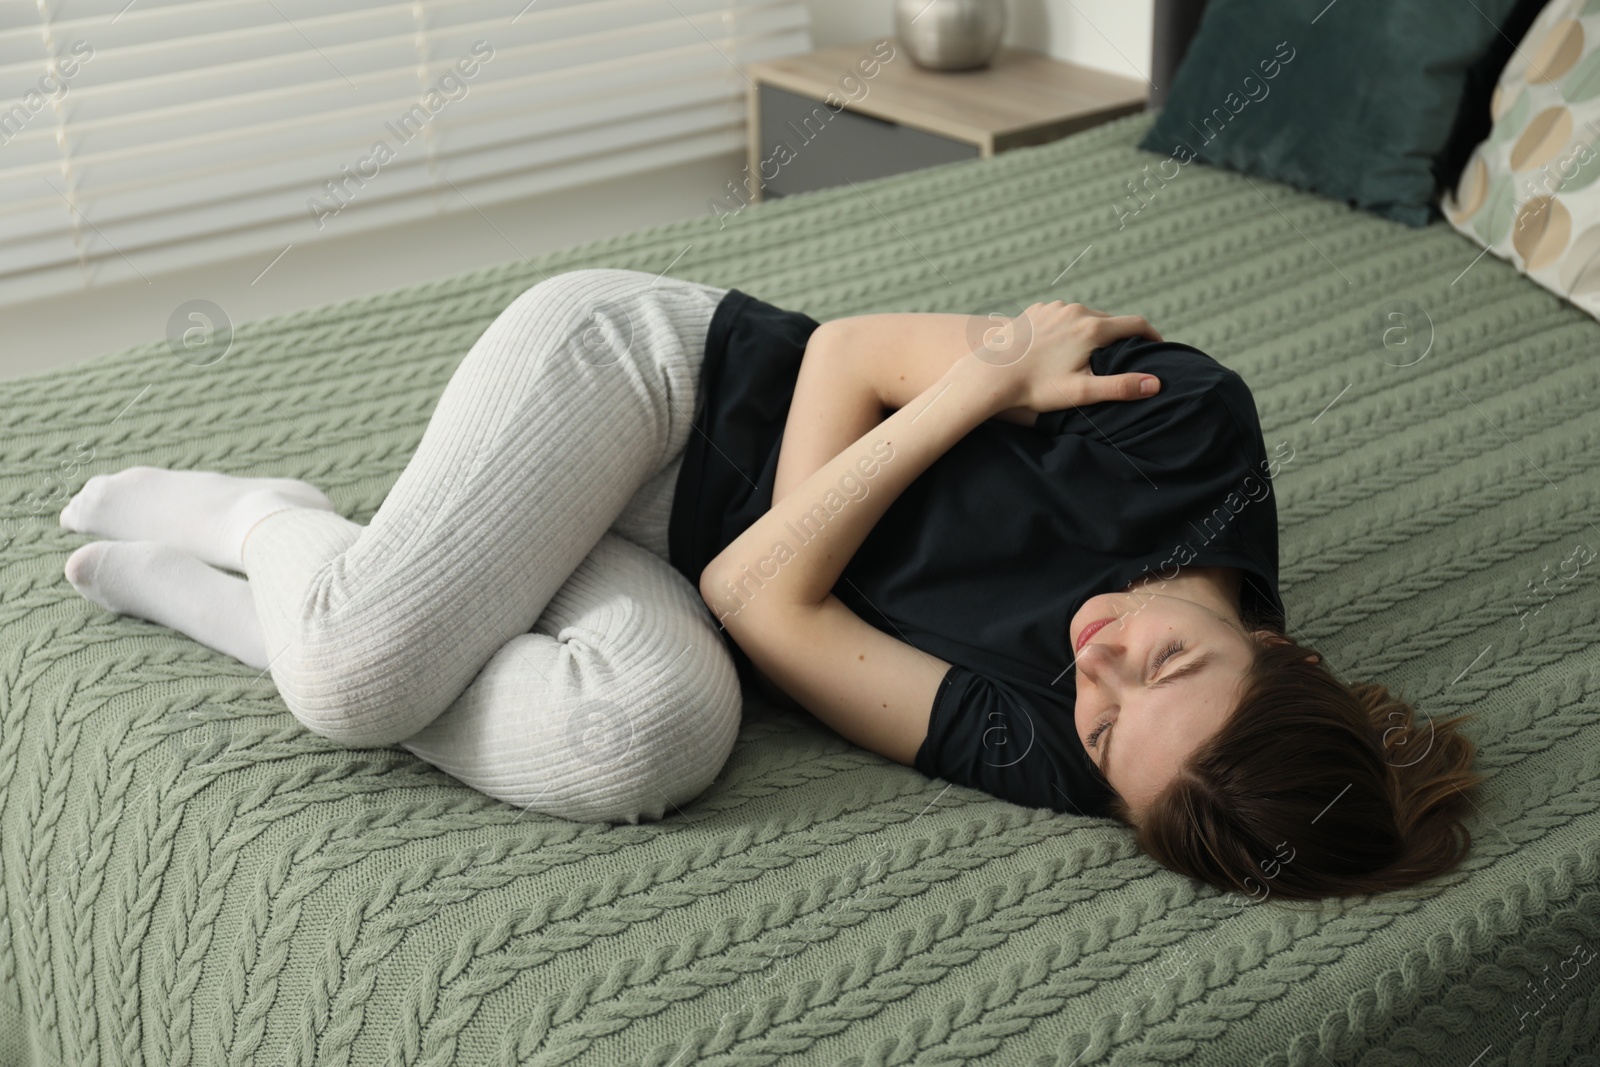
[{"label": "brown hair of the woman, spread on the bedspread", "polygon": [[1475,747],[1466,715],[1418,723],[1376,683],[1346,685],[1326,657],[1258,630],[1256,657],[1222,728],[1134,816],[1110,814],[1163,867],[1250,896],[1382,893],[1454,869]]}]

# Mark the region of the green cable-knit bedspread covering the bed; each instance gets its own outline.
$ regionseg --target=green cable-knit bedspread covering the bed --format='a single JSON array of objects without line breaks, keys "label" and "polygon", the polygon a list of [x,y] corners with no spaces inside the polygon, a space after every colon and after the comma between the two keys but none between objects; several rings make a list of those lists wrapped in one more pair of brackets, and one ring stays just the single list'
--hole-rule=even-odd
[{"label": "green cable-knit bedspread covering the bed", "polygon": [[[0,1067],[1600,1062],[1600,323],[1445,224],[1160,170],[1147,122],[0,382]],[[62,577],[64,496],[130,464],[366,522],[472,341],[587,266],[819,320],[1077,299],[1237,368],[1294,633],[1475,713],[1467,864],[1219,894],[758,701],[682,813],[562,822]]]}]

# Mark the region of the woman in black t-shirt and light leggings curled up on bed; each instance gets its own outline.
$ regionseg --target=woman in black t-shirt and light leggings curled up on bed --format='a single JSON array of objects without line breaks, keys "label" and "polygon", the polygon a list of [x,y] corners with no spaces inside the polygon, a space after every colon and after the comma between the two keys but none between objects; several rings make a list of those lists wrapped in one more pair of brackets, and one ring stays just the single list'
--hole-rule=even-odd
[{"label": "woman in black t-shirt and light leggings curled up on bed", "polygon": [[1235,373],[1133,315],[819,325],[573,270],[472,346],[366,526],[299,480],[157,467],[61,523],[112,539],[66,563],[85,597],[536,811],[678,809],[742,677],[1221,888],[1411,885],[1467,848],[1472,744],[1286,637],[1291,461]]}]

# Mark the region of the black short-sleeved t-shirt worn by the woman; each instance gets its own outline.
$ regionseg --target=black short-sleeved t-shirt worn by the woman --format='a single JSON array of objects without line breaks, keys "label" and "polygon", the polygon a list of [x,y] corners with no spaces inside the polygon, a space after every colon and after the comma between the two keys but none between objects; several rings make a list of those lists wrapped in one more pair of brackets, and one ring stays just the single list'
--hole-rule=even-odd
[{"label": "black short-sleeved t-shirt worn by the woman", "polygon": [[[771,507],[784,421],[818,322],[730,290],[712,315],[669,552],[690,581]],[[834,585],[880,630],[947,661],[915,766],[1030,808],[1106,814],[1074,726],[1069,624],[1146,573],[1242,571],[1246,619],[1285,625],[1256,405],[1198,349],[1144,338],[1090,355],[1162,392],[989,419],[918,475]],[[723,632],[741,675],[754,667]]]}]

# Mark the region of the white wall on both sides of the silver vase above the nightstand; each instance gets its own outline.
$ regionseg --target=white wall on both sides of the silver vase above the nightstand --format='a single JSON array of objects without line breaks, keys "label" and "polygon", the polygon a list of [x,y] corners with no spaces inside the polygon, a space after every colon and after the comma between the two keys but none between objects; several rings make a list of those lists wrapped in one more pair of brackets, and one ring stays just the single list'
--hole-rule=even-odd
[{"label": "white wall on both sides of the silver vase above the nightstand", "polygon": [[[894,32],[894,0],[810,0],[818,48]],[[1006,0],[1005,43],[1147,78],[1154,0]]]}]

